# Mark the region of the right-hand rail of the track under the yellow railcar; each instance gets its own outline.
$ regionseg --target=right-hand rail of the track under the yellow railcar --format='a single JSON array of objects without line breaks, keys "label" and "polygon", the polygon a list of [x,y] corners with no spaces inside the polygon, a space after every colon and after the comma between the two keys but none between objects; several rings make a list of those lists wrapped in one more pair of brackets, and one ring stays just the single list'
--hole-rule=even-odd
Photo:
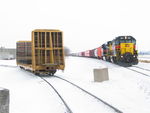
[{"label": "right-hand rail of the track under the yellow railcar", "polygon": [[122,112],[121,110],[119,110],[118,108],[116,108],[116,107],[110,105],[109,103],[105,102],[104,100],[100,99],[99,97],[95,96],[94,94],[92,94],[92,93],[86,91],[85,89],[81,88],[80,86],[78,86],[78,85],[76,85],[76,84],[70,82],[69,80],[66,80],[66,79],[64,79],[64,78],[62,78],[62,77],[59,77],[59,76],[56,76],[56,75],[54,75],[54,77],[56,77],[56,78],[58,78],[58,79],[61,79],[61,80],[65,81],[65,82],[67,82],[67,83],[70,83],[70,84],[73,85],[74,87],[76,87],[76,88],[82,90],[83,92],[85,92],[86,94],[92,96],[93,98],[95,98],[95,99],[98,100],[99,102],[102,102],[103,104],[107,105],[108,107],[110,107],[110,108],[111,108],[112,110],[114,110],[115,112],[117,112],[117,113],[123,113],[123,112]]}]

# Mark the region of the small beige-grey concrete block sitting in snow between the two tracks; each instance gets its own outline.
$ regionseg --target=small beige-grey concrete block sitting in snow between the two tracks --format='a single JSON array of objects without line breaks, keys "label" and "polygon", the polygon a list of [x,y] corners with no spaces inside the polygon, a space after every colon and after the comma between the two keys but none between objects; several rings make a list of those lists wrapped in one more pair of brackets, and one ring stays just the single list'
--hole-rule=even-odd
[{"label": "small beige-grey concrete block sitting in snow between the two tracks", "polygon": [[94,82],[109,80],[108,68],[94,69]]}]

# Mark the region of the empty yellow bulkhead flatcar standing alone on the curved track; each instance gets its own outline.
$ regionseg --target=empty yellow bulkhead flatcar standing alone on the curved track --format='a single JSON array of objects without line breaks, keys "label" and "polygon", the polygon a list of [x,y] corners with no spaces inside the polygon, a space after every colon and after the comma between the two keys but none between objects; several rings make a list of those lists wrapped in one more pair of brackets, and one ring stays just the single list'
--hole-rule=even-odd
[{"label": "empty yellow bulkhead flatcar standing alone on the curved track", "polygon": [[57,69],[64,70],[63,32],[36,29],[31,34],[31,41],[16,44],[17,65],[38,75],[53,75]]}]

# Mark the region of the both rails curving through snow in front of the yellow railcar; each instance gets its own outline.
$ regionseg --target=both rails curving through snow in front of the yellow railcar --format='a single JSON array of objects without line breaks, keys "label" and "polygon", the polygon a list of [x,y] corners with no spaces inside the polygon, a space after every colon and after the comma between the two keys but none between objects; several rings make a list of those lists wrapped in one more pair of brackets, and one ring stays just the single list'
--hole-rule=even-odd
[{"label": "both rails curving through snow in front of the yellow railcar", "polygon": [[[59,76],[53,76],[53,77],[55,77],[55,78],[57,78],[57,79],[59,79],[59,80],[62,80],[62,81],[65,81],[65,82],[71,84],[73,87],[76,87],[77,89],[81,90],[82,92],[88,94],[90,97],[92,97],[92,99],[93,99],[93,98],[96,99],[96,102],[103,103],[103,104],[106,105],[108,108],[111,108],[114,112],[116,112],[116,113],[123,113],[123,112],[122,112],[121,110],[119,110],[118,108],[112,106],[111,104],[105,102],[104,100],[100,99],[99,97],[97,97],[97,96],[93,95],[92,93],[86,91],[85,89],[81,88],[80,86],[78,86],[78,85],[76,85],[76,84],[70,82],[69,80],[66,80],[66,79],[64,79],[64,78],[62,78],[62,77],[59,77]],[[40,76],[40,78],[43,79],[47,84],[49,84],[49,85],[54,89],[54,91],[57,93],[57,95],[59,96],[59,98],[60,98],[60,99],[62,100],[62,102],[64,103],[64,105],[65,105],[65,107],[66,107],[66,109],[67,109],[67,112],[68,112],[68,113],[73,113],[73,111],[71,110],[71,108],[69,107],[69,105],[67,105],[67,103],[65,102],[65,100],[62,98],[62,96],[61,96],[61,95],[58,93],[58,91],[56,90],[56,88],[54,88],[54,86],[53,86],[48,80],[46,80],[44,77],[41,77],[41,76]]]}]

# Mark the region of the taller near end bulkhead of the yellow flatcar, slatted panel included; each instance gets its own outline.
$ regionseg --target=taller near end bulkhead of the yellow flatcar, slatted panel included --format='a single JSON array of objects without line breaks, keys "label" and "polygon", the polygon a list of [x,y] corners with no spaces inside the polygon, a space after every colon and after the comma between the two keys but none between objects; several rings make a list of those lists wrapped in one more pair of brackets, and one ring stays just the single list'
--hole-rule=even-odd
[{"label": "taller near end bulkhead of the yellow flatcar, slatted panel included", "polygon": [[32,31],[32,63],[34,71],[64,70],[62,31],[49,29]]}]

